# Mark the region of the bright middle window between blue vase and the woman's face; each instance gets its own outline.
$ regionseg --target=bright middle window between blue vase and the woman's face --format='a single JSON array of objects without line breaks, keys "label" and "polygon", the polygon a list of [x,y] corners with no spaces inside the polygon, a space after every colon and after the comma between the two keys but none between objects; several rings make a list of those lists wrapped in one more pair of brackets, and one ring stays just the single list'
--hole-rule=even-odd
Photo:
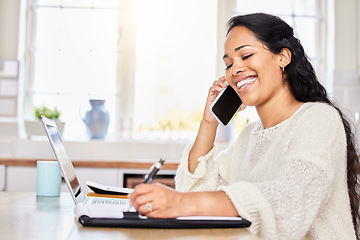
[{"label": "bright middle window between blue vase and the woman's face", "polygon": [[214,0],[138,5],[134,123],[142,136],[197,131],[216,79],[216,6]]}]

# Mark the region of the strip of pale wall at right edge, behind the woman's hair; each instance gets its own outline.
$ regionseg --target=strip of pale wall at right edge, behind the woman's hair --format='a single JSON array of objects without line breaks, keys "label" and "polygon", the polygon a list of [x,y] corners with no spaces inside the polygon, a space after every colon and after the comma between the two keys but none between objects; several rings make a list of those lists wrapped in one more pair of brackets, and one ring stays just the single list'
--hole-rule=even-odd
[{"label": "strip of pale wall at right edge, behind the woman's hair", "polygon": [[[334,100],[350,120],[360,112],[359,0],[335,0]],[[360,129],[357,126],[357,137]]]}]

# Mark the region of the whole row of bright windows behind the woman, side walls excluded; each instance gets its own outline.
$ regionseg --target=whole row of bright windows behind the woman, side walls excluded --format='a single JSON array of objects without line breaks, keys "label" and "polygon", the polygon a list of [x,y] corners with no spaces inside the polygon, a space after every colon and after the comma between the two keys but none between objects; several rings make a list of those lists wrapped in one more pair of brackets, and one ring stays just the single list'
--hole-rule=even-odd
[{"label": "whole row of bright windows behind the woman, side walls excluded", "polygon": [[[25,117],[57,106],[65,139],[87,139],[81,116],[90,98],[106,100],[107,138],[193,138],[224,68],[218,48],[229,15],[279,15],[320,79],[324,72],[323,0],[27,1]],[[251,108],[239,115],[238,130],[257,119]]]}]

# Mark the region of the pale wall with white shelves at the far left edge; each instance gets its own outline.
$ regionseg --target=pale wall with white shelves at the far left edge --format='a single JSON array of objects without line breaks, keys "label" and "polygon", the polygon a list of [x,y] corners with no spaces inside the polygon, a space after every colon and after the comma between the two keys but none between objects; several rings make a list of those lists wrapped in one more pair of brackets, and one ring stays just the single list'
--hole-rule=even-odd
[{"label": "pale wall with white shelves at the far left edge", "polygon": [[[19,0],[0,0],[0,153],[17,138]],[[6,61],[5,61],[6,60]]]}]

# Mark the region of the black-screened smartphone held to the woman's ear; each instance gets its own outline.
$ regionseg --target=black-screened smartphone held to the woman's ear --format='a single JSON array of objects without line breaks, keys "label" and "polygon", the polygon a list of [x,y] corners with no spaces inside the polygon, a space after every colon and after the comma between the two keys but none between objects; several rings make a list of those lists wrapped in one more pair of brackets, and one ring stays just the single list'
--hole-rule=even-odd
[{"label": "black-screened smartphone held to the woman's ear", "polygon": [[211,104],[210,112],[221,125],[226,126],[235,116],[241,104],[239,95],[228,85]]}]

